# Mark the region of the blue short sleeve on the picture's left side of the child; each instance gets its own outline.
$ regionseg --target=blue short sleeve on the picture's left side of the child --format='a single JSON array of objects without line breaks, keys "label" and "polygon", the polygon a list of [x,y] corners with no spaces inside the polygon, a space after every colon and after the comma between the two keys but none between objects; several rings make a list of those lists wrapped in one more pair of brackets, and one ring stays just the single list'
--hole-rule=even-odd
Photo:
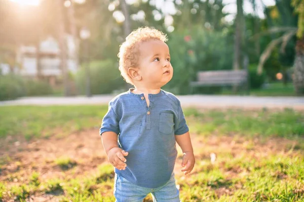
[{"label": "blue short sleeve on the picture's left side of the child", "polygon": [[119,117],[115,113],[115,110],[112,107],[112,103],[109,103],[109,108],[107,113],[102,119],[102,124],[101,128],[99,131],[99,134],[102,135],[102,133],[107,132],[107,131],[112,131],[115,132],[116,134],[120,133],[119,130]]}]

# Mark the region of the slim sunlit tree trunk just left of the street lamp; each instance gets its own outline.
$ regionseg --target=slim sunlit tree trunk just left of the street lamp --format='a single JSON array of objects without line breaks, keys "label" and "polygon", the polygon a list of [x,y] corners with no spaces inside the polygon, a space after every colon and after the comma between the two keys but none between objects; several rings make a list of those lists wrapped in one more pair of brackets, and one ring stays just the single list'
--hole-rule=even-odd
[{"label": "slim sunlit tree trunk just left of the street lamp", "polygon": [[58,41],[60,47],[60,58],[61,58],[61,70],[64,85],[64,96],[69,95],[68,90],[68,71],[67,71],[67,61],[66,61],[66,42],[65,42],[65,29],[64,29],[64,17],[63,17],[63,1],[57,0],[58,8]]}]

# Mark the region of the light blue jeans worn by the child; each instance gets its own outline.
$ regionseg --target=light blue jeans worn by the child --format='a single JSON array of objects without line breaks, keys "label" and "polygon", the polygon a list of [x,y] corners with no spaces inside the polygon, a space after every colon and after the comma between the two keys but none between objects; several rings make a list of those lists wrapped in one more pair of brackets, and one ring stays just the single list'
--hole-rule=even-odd
[{"label": "light blue jeans worn by the child", "polygon": [[154,202],[179,202],[179,191],[175,185],[174,174],[170,180],[158,188],[137,186],[125,178],[115,174],[114,196],[116,202],[142,202],[151,193]]}]

